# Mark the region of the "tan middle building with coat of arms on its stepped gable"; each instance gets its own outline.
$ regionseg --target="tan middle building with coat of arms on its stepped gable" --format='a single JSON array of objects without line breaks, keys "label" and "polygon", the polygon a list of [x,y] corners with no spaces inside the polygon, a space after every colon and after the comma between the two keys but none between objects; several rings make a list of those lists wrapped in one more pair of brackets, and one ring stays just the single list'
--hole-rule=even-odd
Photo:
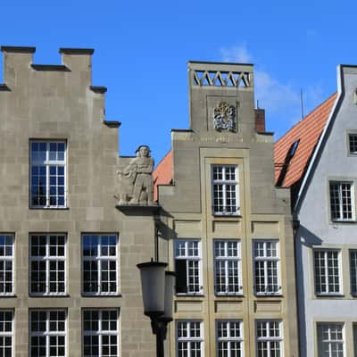
[{"label": "tan middle building with coat of arms on its stepped gable", "polygon": [[178,274],[170,355],[297,357],[290,195],[274,186],[253,66],[188,73],[189,129],[172,129],[154,171],[160,254]]}]

